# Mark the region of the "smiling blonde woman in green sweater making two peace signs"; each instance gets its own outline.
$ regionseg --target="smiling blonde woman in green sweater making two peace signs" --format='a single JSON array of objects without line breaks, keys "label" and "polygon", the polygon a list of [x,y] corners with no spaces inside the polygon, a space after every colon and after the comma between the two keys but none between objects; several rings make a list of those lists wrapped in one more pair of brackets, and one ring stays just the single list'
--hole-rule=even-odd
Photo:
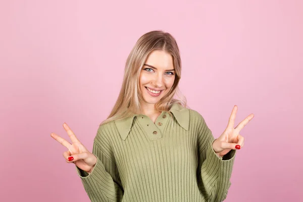
[{"label": "smiling blonde woman in green sweater making two peace signs", "polygon": [[63,124],[68,148],[91,201],[222,201],[231,185],[236,149],[244,145],[234,106],[222,135],[214,139],[204,118],[175,98],[181,59],[169,33],[139,38],[126,61],[118,100],[100,124],[92,153]]}]

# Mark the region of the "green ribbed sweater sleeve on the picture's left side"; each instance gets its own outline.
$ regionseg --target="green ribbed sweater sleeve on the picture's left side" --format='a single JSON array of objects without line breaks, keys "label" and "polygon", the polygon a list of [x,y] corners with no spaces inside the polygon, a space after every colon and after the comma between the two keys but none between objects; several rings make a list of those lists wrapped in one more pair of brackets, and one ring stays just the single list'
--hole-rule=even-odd
[{"label": "green ribbed sweater sleeve on the picture's left side", "polygon": [[93,142],[92,154],[97,158],[93,170],[87,173],[76,166],[84,189],[94,202],[121,201],[123,197],[124,190],[109,142],[99,128]]}]

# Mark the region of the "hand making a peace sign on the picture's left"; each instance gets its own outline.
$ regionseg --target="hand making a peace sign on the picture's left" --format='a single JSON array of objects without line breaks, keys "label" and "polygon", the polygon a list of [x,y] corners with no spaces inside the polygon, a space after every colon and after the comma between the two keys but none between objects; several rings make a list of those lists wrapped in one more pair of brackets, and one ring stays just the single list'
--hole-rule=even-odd
[{"label": "hand making a peace sign on the picture's left", "polygon": [[96,156],[85,148],[66,123],[63,124],[63,127],[71,138],[72,144],[55,133],[51,133],[51,136],[68,148],[68,151],[63,153],[65,161],[67,163],[74,163],[78,168],[90,173],[97,162]]}]

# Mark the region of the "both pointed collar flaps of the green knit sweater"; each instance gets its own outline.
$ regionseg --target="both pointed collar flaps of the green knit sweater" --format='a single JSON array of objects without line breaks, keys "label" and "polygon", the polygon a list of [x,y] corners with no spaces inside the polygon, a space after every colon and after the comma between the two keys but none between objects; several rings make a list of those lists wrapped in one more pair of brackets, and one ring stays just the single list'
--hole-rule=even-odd
[{"label": "both pointed collar flaps of the green knit sweater", "polygon": [[[188,130],[189,110],[187,108],[184,108],[183,106],[179,105],[178,103],[175,103],[175,104],[173,104],[173,106],[171,107],[171,109],[169,111],[176,118],[178,124],[185,130]],[[131,127],[132,127],[133,119],[136,116],[138,116],[138,114],[115,121],[119,134],[123,140],[125,140],[127,135],[129,134]]]}]

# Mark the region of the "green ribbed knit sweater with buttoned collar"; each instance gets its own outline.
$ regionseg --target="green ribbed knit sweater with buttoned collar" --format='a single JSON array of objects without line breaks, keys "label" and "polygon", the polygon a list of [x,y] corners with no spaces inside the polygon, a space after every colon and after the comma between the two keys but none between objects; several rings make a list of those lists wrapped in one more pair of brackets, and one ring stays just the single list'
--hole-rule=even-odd
[{"label": "green ribbed knit sweater with buttoned collar", "polygon": [[223,201],[236,150],[219,158],[196,111],[174,104],[154,123],[139,114],[101,125],[92,172],[79,169],[91,201]]}]

